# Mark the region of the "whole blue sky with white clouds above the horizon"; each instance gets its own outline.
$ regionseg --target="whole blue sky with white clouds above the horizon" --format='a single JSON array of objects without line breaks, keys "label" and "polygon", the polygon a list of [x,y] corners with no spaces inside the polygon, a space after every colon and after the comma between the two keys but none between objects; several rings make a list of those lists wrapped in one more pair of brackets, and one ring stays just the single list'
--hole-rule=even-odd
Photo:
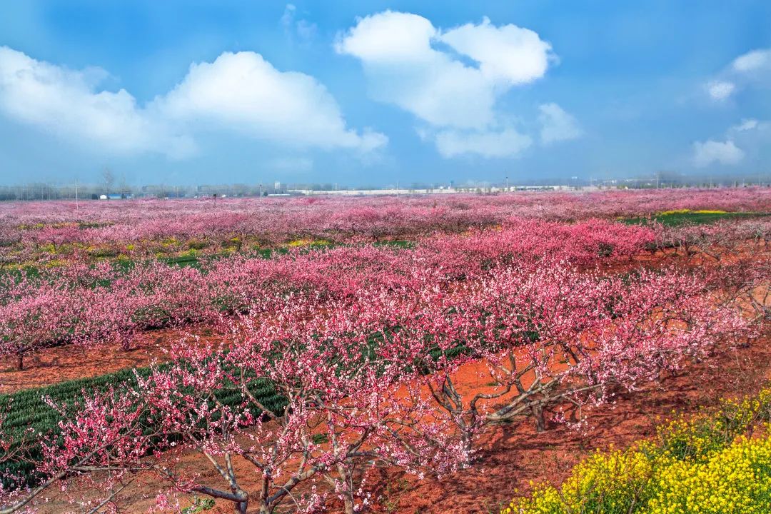
[{"label": "whole blue sky with white clouds above the horizon", "polygon": [[644,3],[3,2],[0,183],[769,172],[771,4]]}]

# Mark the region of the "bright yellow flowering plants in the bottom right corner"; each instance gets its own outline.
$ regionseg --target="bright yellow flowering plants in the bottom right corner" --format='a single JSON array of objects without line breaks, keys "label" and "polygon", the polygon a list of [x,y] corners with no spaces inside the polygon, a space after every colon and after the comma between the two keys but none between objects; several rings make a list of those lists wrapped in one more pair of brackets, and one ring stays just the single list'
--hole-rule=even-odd
[{"label": "bright yellow flowering plants in the bottom right corner", "polygon": [[771,389],[719,412],[678,418],[658,442],[595,452],[558,489],[536,485],[504,514],[760,514],[771,512]]}]

